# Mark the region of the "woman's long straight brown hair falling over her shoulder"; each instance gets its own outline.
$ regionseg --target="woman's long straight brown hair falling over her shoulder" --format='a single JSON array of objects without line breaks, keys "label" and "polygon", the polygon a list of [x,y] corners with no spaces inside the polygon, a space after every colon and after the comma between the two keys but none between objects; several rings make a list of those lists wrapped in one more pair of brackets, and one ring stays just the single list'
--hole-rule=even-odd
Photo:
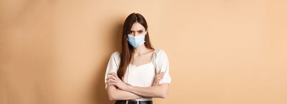
[{"label": "woman's long straight brown hair falling over her shoulder", "polygon": [[[118,77],[123,81],[123,77],[125,75],[125,71],[127,67],[129,66],[131,62],[131,58],[133,55],[133,47],[128,43],[127,41],[127,34],[131,30],[131,27],[133,26],[133,23],[140,23],[142,26],[145,27],[145,31],[147,31],[148,24],[145,21],[145,18],[138,14],[138,13],[132,13],[130,14],[124,23],[123,31],[122,31],[122,51],[121,51],[121,61],[119,65],[119,70],[117,72]],[[151,45],[148,32],[145,35],[145,46],[149,49],[154,49],[154,47]]]}]

